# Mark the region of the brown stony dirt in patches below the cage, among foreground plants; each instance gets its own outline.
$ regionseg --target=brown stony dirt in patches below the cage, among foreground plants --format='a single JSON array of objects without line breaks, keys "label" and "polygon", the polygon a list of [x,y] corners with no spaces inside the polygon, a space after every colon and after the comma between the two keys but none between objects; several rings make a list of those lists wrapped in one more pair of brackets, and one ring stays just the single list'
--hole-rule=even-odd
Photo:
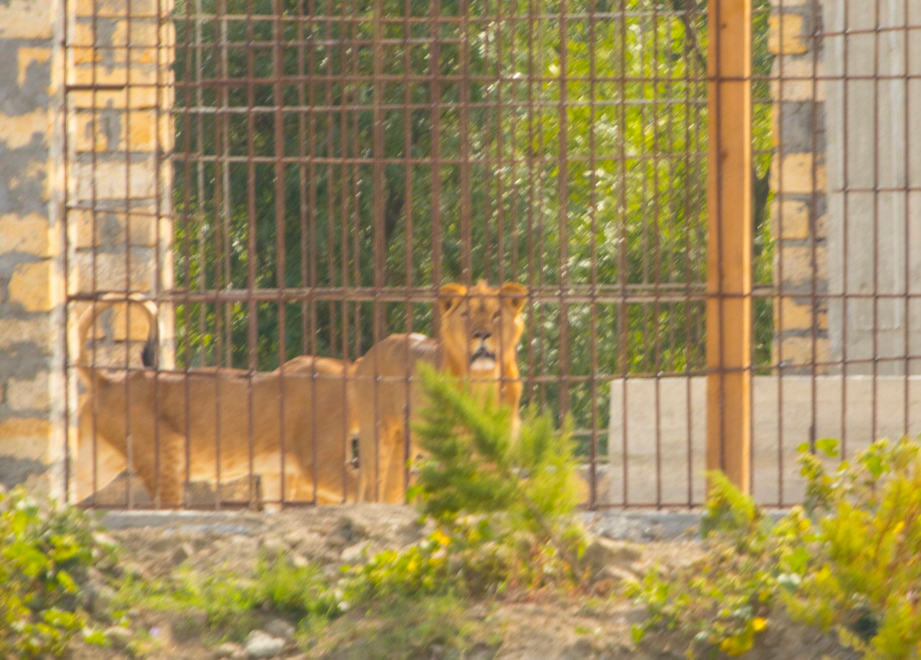
[{"label": "brown stony dirt in patches below the cage, among foreground plants", "polygon": [[[123,527],[126,520],[122,516],[117,522],[117,527]],[[601,534],[612,529],[603,516],[589,516],[587,524]],[[125,572],[157,580],[169,577],[181,566],[203,572],[229,568],[247,573],[261,551],[269,556],[284,552],[289,559],[321,564],[335,574],[342,563],[360,561],[363,550],[372,554],[378,550],[399,549],[422,538],[427,531],[417,522],[417,515],[410,507],[352,504],[274,515],[237,513],[201,518],[190,515],[169,524],[110,528],[108,533],[122,546],[121,565]],[[647,542],[642,544],[641,558],[631,569],[639,573],[656,563],[675,566],[692,562],[700,551],[692,535]],[[685,657],[684,644],[668,636],[647,638],[637,648],[631,639],[630,627],[642,620],[644,610],[623,600],[561,596],[548,599],[542,596],[525,602],[475,604],[469,614],[474,620],[482,620],[498,635],[496,642],[463,656],[474,660],[667,660]],[[208,639],[204,634],[204,616],[135,610],[130,612],[130,617],[147,637],[156,639],[157,651],[149,657],[204,660],[228,656],[216,653],[216,643],[220,641]],[[99,649],[80,645],[73,657],[77,660],[131,657],[117,646]],[[327,649],[321,656],[330,660],[379,657],[338,653],[335,648]],[[763,643],[747,655],[755,660],[820,660],[824,656],[847,657],[837,644],[821,634],[773,621],[764,634]],[[245,655],[238,654],[238,657]],[[308,655],[289,643],[274,657],[307,658]],[[425,652],[403,657],[436,660],[449,656],[433,646]]]}]

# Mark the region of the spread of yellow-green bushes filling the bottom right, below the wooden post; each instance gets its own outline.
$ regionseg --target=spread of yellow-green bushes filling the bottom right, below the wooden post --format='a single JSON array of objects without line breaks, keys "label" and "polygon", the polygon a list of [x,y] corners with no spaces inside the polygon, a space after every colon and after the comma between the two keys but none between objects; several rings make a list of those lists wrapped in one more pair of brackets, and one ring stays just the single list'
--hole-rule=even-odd
[{"label": "spread of yellow-green bushes filling the bottom right, below the wooden post", "polygon": [[804,506],[776,523],[710,475],[705,556],[631,586],[647,606],[637,641],[666,628],[692,638],[691,654],[743,654],[785,609],[868,660],[921,656],[921,445],[880,440],[835,469],[826,463],[837,443],[816,449],[799,447]]}]

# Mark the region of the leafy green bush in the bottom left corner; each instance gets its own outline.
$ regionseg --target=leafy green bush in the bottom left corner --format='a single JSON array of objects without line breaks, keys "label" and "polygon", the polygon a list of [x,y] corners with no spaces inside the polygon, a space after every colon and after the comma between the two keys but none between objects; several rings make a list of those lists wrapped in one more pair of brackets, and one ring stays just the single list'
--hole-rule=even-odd
[{"label": "leafy green bush in the bottom left corner", "polygon": [[76,634],[105,643],[87,624],[79,585],[112,552],[83,512],[18,488],[0,494],[0,656],[62,654]]}]

